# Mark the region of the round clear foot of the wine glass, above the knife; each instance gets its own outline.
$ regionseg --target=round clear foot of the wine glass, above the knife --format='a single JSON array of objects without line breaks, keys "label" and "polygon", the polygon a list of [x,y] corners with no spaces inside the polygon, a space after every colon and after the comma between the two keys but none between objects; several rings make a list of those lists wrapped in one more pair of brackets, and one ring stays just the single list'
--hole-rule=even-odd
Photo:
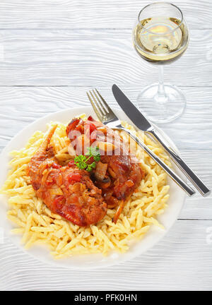
[{"label": "round clear foot of the wine glass, above the knife", "polygon": [[137,97],[139,110],[156,124],[174,121],[182,115],[186,98],[175,85],[164,84],[165,95],[158,94],[158,83],[144,88]]}]

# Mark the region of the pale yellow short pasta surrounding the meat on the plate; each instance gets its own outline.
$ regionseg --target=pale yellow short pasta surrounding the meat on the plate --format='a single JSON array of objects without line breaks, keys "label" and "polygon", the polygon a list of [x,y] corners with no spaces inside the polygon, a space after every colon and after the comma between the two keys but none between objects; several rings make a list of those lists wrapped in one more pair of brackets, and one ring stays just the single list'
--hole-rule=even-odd
[{"label": "pale yellow short pasta surrounding the meat on the plate", "polygon": [[[85,115],[81,117],[85,118]],[[48,124],[52,126],[55,122]],[[58,127],[52,138],[52,145],[59,162],[70,160],[68,152],[69,139],[66,138],[66,125],[57,123]],[[143,139],[155,154],[170,166],[165,152],[153,140],[134,130],[134,127],[123,122],[123,125]],[[118,132],[118,131],[117,131]],[[125,141],[128,136],[121,134]],[[40,147],[45,133],[36,131],[28,140],[25,148],[11,152],[11,169],[1,189],[8,196],[8,219],[16,227],[13,234],[21,234],[21,242],[29,249],[33,244],[44,243],[54,258],[64,258],[75,254],[102,253],[110,251],[124,253],[129,249],[129,241],[141,239],[151,225],[158,225],[157,215],[163,213],[169,198],[167,174],[141,148],[136,147],[136,157],[146,171],[146,177],[139,188],[124,206],[116,224],[112,222],[115,209],[107,210],[107,215],[97,225],[79,227],[54,214],[37,198],[26,175],[30,158]]]}]

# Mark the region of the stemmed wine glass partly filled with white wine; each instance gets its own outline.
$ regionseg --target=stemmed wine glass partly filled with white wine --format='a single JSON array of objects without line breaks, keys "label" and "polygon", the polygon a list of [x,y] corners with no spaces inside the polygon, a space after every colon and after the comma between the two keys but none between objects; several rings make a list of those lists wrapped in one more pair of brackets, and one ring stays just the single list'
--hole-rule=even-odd
[{"label": "stemmed wine glass partly filled with white wine", "polygon": [[178,59],[187,49],[189,32],[182,11],[167,2],[145,6],[136,18],[133,42],[139,56],[159,65],[159,83],[140,92],[139,109],[155,123],[176,119],[184,112],[186,99],[175,85],[163,82],[163,65]]}]

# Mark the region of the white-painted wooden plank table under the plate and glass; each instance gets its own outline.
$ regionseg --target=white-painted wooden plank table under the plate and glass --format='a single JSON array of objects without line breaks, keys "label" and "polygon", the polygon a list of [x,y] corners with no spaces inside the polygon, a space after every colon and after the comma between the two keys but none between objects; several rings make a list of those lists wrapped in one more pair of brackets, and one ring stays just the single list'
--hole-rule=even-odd
[{"label": "white-painted wooden plank table under the plate and glass", "polygon": [[[139,58],[131,43],[136,14],[150,2],[1,0],[0,148],[45,114],[88,105],[90,88],[115,105],[111,85],[117,83],[136,102],[139,91],[158,80],[158,68]],[[165,81],[182,88],[187,109],[162,128],[212,188],[212,2],[172,2],[182,8],[191,39],[182,58],[165,66]],[[112,268],[52,268],[4,239],[0,289],[211,289],[210,232],[212,196],[196,194],[160,243]]]}]

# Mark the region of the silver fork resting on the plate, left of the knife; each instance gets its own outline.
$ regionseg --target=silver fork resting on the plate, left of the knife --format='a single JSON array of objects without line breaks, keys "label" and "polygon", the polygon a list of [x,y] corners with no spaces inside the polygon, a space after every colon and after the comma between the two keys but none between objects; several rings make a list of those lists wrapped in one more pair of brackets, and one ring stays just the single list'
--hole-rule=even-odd
[{"label": "silver fork resting on the plate, left of the knife", "polygon": [[145,150],[148,155],[150,155],[155,162],[162,167],[165,172],[189,195],[192,196],[194,195],[195,191],[188,185],[186,184],[175,172],[173,172],[170,167],[168,167],[155,153],[150,150],[139,138],[134,136],[131,131],[128,129],[124,128],[121,124],[121,121],[119,121],[119,118],[114,114],[112,109],[108,106],[107,102],[105,102],[104,98],[102,95],[100,95],[100,92],[95,89],[92,90],[92,92],[86,92],[88,95],[88,99],[90,100],[90,103],[93,106],[93,110],[95,114],[98,116],[98,119],[102,122],[102,124],[107,125],[108,127],[114,129],[114,130],[119,130],[119,131],[125,131],[126,133],[129,134],[129,136],[136,141],[143,150]]}]

